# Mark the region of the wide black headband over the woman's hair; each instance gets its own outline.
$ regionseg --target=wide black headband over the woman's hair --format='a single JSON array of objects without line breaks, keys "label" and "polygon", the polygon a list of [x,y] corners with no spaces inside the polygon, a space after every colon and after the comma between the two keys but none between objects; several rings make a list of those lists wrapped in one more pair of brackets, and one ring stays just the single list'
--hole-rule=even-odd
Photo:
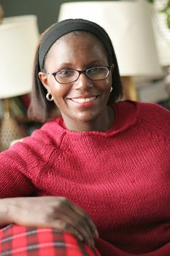
[{"label": "wide black headband over the woman's hair", "polygon": [[89,20],[83,20],[83,19],[68,19],[63,20],[59,23],[55,23],[45,34],[45,36],[42,38],[41,45],[39,46],[39,67],[42,71],[43,63],[45,56],[48,52],[48,50],[51,48],[53,43],[60,37],[62,37],[64,34],[68,34],[72,31],[77,30],[83,30],[88,31],[92,34],[95,34],[98,39],[103,42],[107,53],[109,62],[112,63],[112,42],[109,39],[109,36],[107,32],[101,28],[101,26],[98,26],[98,24],[93,23]]}]

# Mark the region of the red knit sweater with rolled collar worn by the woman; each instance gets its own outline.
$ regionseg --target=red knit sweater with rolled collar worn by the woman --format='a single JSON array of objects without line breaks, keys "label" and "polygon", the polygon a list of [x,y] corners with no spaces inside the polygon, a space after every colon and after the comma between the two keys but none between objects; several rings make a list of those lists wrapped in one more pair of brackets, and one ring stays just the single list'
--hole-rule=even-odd
[{"label": "red knit sweater with rolled collar worn by the woman", "polygon": [[0,154],[0,197],[68,197],[98,227],[101,255],[170,255],[170,112],[119,102],[107,132],[62,118]]}]

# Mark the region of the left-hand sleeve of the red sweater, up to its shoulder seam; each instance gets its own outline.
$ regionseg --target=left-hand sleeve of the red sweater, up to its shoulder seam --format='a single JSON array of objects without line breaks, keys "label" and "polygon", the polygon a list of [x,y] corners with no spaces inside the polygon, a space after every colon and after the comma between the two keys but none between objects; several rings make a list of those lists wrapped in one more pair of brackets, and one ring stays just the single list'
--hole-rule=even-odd
[{"label": "left-hand sleeve of the red sweater, up to its shoulder seam", "polygon": [[63,135],[56,136],[56,129],[56,121],[49,121],[0,153],[0,198],[39,195],[45,166]]}]

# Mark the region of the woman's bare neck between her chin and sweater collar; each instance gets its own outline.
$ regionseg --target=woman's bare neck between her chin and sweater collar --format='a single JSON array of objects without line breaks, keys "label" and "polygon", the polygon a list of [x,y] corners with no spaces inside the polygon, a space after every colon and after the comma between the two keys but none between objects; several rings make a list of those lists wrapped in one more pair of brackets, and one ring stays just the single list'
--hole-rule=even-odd
[{"label": "woman's bare neck between her chin and sweater collar", "polygon": [[106,132],[114,121],[114,111],[113,108],[107,105],[106,110],[93,120],[81,121],[81,120],[72,120],[69,118],[64,118],[62,115],[66,129],[69,129],[72,132]]}]

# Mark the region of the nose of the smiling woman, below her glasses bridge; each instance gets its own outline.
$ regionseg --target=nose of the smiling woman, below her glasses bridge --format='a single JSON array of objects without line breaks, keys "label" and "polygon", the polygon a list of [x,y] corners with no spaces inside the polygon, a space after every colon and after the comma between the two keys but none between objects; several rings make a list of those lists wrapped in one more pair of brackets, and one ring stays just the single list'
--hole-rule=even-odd
[{"label": "nose of the smiling woman, below her glasses bridge", "polygon": [[93,81],[90,80],[84,73],[80,74],[80,77],[74,82],[74,89],[87,90],[93,87]]}]

